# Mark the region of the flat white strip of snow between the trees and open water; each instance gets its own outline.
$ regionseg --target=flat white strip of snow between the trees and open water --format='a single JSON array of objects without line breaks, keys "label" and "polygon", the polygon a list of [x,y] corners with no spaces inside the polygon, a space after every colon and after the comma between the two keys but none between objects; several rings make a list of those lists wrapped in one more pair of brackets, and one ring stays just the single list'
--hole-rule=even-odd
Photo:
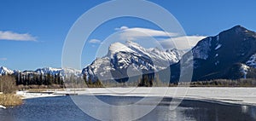
[{"label": "flat white strip of snow between the trees and open water", "polygon": [[[166,92],[166,93],[165,93]],[[63,94],[78,95],[118,95],[118,96],[165,96],[177,97],[200,101],[220,101],[235,104],[248,104],[256,106],[256,88],[215,88],[215,87],[197,87],[197,88],[94,88],[94,89],[65,89],[55,91],[54,94],[17,92],[25,99],[59,96]],[[183,96],[184,95],[184,96]]]}]

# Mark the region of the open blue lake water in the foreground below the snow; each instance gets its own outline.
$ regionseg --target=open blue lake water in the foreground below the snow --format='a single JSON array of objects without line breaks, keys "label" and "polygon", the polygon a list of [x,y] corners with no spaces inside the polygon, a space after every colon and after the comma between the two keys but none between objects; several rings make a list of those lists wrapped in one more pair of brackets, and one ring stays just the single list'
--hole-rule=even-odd
[{"label": "open blue lake water in the foreground below the snow", "polygon": [[[89,98],[90,95],[84,95],[84,98]],[[98,95],[98,99],[115,104],[130,104],[142,99],[142,97],[122,97],[122,96],[107,96]],[[152,97],[154,98],[154,97]],[[207,102],[207,101],[192,101],[183,100],[176,110],[169,110],[170,98],[163,99],[160,104],[149,112],[143,118],[137,120],[153,120],[153,121],[168,121],[168,120],[256,120],[256,107],[235,105],[229,103]],[[125,116],[132,116],[137,112],[137,109],[143,109],[150,104],[138,104],[132,112],[130,110],[120,110],[118,114],[111,113],[108,107],[100,107],[100,104],[95,102],[84,102],[84,105],[98,107],[102,111],[98,114],[108,115],[105,120],[125,120]],[[89,109],[90,110],[90,109]],[[85,114],[73,102],[70,96],[46,97],[27,99],[25,103],[19,107],[8,109],[0,109],[1,121],[82,121],[96,120]]]}]

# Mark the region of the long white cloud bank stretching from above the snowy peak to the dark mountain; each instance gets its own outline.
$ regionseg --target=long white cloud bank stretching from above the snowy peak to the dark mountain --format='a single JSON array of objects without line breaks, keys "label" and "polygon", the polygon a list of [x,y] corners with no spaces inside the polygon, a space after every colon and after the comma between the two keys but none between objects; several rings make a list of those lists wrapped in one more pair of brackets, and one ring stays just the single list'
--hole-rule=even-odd
[{"label": "long white cloud bank stretching from above the snowy peak to the dark mountain", "polygon": [[[154,37],[160,45],[165,49],[191,49],[205,36],[181,36],[174,32],[164,32],[148,28],[134,27],[129,28],[127,26],[121,26],[115,28],[115,31],[119,31],[119,39],[141,41],[143,39],[150,39]],[[145,43],[149,44],[149,43]]]}]

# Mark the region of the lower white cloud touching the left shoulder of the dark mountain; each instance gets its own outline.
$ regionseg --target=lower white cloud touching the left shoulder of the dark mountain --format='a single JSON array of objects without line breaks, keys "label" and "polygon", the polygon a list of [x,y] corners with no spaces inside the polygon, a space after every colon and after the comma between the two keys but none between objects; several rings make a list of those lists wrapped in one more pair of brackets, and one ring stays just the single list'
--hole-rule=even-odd
[{"label": "lower white cloud touching the left shoulder of the dark mountain", "polygon": [[160,44],[165,49],[191,49],[205,36],[183,36],[183,37],[172,37],[160,40]]}]

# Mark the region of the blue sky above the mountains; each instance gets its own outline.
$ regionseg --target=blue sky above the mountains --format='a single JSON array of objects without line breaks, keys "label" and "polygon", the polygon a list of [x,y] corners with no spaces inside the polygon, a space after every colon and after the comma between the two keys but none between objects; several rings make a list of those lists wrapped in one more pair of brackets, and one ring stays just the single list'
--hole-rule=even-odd
[{"label": "blue sky above the mountains", "polygon": [[[67,33],[81,14],[103,0],[1,0],[0,66],[35,70],[61,67],[62,46]],[[256,31],[255,0],[153,0],[172,13],[189,36],[213,36],[232,26]],[[117,28],[161,31],[146,20],[119,18],[99,26],[84,46],[82,67],[95,59],[96,49]]]}]

